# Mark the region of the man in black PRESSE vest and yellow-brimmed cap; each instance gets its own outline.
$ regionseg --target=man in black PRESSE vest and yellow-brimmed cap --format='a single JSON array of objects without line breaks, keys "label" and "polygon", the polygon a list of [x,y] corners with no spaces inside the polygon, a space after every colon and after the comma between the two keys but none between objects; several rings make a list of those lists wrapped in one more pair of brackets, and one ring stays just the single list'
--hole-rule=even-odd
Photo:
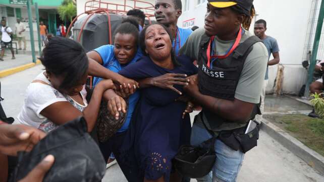
[{"label": "man in black PRESSE vest and yellow-brimmed cap", "polygon": [[244,158],[242,144],[235,138],[223,140],[223,134],[244,133],[247,123],[260,114],[256,106],[268,53],[261,40],[248,32],[254,15],[253,0],[208,0],[204,28],[194,31],[180,50],[199,65],[198,74],[190,76],[184,88],[202,107],[192,127],[191,144],[219,136],[212,178],[206,175],[198,181],[236,181]]}]

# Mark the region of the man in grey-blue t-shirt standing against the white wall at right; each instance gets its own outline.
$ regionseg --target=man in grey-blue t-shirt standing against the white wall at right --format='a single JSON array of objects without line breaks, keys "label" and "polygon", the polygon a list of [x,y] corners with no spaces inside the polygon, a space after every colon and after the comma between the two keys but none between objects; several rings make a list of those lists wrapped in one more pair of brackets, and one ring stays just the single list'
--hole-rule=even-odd
[{"label": "man in grey-blue t-shirt standing against the white wall at right", "polygon": [[[254,24],[254,34],[263,41],[266,49],[268,50],[269,58],[270,58],[271,54],[274,56],[274,59],[268,60],[268,64],[266,67],[264,85],[263,85],[262,92],[261,92],[261,106],[260,106],[261,113],[263,113],[263,110],[264,110],[265,88],[266,88],[266,85],[268,83],[268,78],[269,78],[268,77],[268,66],[276,65],[280,62],[279,46],[278,46],[277,40],[273,37],[265,35],[265,31],[266,31],[265,20],[260,19],[260,20],[256,21]],[[257,115],[256,120],[260,122],[262,120],[262,115]]]}]

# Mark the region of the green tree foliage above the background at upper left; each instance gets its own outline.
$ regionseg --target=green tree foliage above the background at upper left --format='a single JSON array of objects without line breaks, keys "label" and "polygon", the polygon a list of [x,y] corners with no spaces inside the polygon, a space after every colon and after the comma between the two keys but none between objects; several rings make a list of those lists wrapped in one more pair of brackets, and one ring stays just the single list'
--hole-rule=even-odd
[{"label": "green tree foliage above the background at upper left", "polygon": [[62,5],[59,6],[58,12],[61,20],[70,20],[72,22],[72,18],[77,16],[77,6],[75,1],[64,0]]}]

